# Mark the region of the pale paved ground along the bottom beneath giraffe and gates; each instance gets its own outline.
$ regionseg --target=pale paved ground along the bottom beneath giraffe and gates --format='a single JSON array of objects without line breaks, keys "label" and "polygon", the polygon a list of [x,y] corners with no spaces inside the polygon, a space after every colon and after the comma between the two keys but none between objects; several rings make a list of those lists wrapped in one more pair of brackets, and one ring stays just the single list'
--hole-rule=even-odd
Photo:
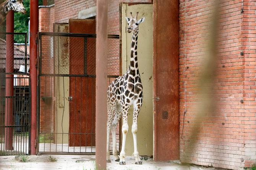
[{"label": "pale paved ground along the bottom beneath giraffe and gates", "polygon": [[[26,156],[25,156],[26,157]],[[52,155],[57,162],[49,162],[49,156],[28,156],[27,161],[19,162],[15,156],[0,156],[0,170],[95,170],[95,156],[88,155]],[[46,159],[47,158],[47,159]],[[178,161],[155,162],[146,157],[143,165],[135,165],[134,157],[126,156],[126,165],[119,165],[111,156],[108,170],[215,170],[213,167],[178,164]],[[177,162],[177,163],[175,163]],[[218,168],[218,170],[220,170]]]}]

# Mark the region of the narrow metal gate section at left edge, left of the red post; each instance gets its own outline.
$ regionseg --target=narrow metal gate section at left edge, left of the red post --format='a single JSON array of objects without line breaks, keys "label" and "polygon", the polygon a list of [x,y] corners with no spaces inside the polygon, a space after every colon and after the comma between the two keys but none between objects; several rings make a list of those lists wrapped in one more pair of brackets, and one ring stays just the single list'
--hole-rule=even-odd
[{"label": "narrow metal gate section at left edge, left of the red post", "polygon": [[[23,40],[24,43],[15,43]],[[0,156],[30,152],[27,33],[0,33]]]}]

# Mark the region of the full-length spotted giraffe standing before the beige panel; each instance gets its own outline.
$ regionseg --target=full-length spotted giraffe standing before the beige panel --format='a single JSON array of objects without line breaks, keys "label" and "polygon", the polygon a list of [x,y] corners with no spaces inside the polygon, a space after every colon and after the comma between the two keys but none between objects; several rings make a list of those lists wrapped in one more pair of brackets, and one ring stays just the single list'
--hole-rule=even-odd
[{"label": "full-length spotted giraffe standing before the beige panel", "polygon": [[[138,69],[138,58],[137,58],[137,40],[139,32],[139,24],[142,23],[145,17],[137,20],[138,12],[135,17],[130,13],[130,18],[125,17],[128,22],[127,32],[133,32],[131,41],[131,58],[130,66],[126,73],[109,85],[107,89],[107,162],[110,161],[109,152],[109,134],[112,131],[113,138],[113,156],[115,156],[115,161],[119,161],[120,165],[125,165],[125,138],[128,132],[128,109],[133,105],[133,125],[131,127],[131,132],[133,133],[133,144],[135,157],[135,164],[141,165],[142,162],[139,158],[139,152],[137,149],[137,138],[136,133],[138,131],[137,119],[139,110],[142,105],[143,93],[141,77],[139,75]],[[123,115],[123,126],[122,126],[122,150],[120,152],[120,157],[117,155],[117,144],[116,144],[116,128],[117,124]]]}]

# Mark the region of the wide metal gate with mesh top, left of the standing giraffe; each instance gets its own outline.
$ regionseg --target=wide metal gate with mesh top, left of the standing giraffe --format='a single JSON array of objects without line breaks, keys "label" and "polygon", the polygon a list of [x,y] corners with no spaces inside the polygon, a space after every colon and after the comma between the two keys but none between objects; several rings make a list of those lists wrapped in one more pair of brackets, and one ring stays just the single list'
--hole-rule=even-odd
[{"label": "wide metal gate with mesh top, left of the standing giraffe", "polygon": [[[38,39],[38,154],[95,154],[96,34],[39,32]],[[119,35],[109,44],[108,55],[119,59]],[[112,61],[109,82],[119,71]]]}]

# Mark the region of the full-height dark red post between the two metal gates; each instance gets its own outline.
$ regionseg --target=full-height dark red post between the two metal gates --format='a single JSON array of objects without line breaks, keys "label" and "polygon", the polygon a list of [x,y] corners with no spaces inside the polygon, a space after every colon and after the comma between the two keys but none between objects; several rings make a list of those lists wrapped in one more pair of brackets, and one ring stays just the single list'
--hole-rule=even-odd
[{"label": "full-height dark red post between the two metal gates", "polygon": [[31,80],[31,140],[30,140],[30,154],[36,154],[36,107],[37,107],[37,38],[38,32],[38,0],[30,0],[30,80]]}]

